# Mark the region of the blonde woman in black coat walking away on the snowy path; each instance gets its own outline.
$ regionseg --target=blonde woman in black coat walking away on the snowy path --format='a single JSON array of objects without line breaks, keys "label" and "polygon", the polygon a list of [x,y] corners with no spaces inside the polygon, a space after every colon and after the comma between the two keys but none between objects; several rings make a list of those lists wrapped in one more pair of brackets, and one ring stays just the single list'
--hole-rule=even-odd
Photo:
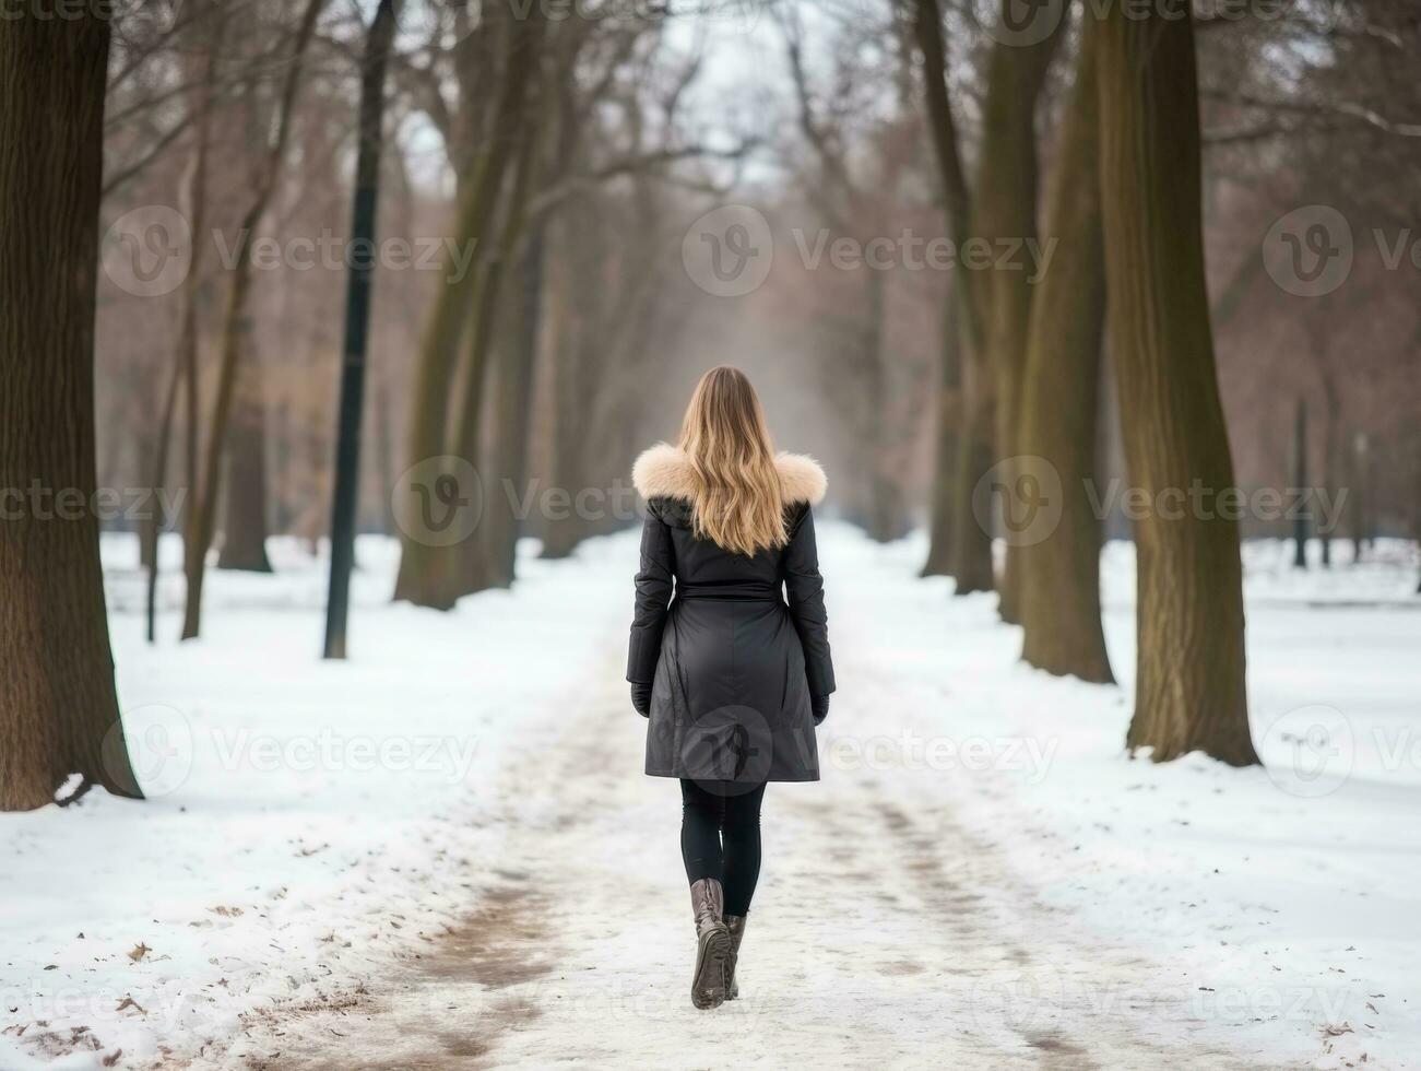
[{"label": "blonde woman in black coat walking away on the snowy path", "polygon": [[826,481],[774,452],[750,381],[722,367],[696,385],[679,445],[642,454],[632,484],[647,522],[627,680],[649,720],[647,772],[681,779],[691,1000],[713,1008],[737,994],[764,785],[818,779],[834,667],[810,506]]}]

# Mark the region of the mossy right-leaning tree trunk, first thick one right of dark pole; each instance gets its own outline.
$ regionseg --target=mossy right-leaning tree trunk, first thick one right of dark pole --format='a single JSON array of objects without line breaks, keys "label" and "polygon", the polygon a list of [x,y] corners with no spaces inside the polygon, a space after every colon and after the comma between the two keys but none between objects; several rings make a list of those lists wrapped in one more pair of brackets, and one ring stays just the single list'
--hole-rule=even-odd
[{"label": "mossy right-leaning tree trunk, first thick one right of dark pole", "polygon": [[[529,17],[513,18],[506,27],[507,55],[493,131],[487,148],[479,156],[455,229],[465,249],[470,247],[470,243],[475,249],[482,247],[486,236],[493,232],[503,176],[513,155],[519,122],[524,115],[529,80],[537,67],[541,50],[543,27],[544,20],[537,6],[530,10]],[[446,280],[435,299],[435,309],[421,344],[409,418],[411,467],[448,457],[449,391],[455,361],[470,319],[470,309],[480,304],[479,294],[486,275],[487,272],[480,267],[470,270],[459,282]],[[477,346],[475,339],[473,348]],[[482,367],[476,368],[470,363],[469,374],[482,378]],[[418,489],[411,488],[412,492]],[[458,550],[458,546],[453,549]],[[452,607],[458,595],[453,573],[446,568],[450,560],[449,550],[450,548],[436,546],[422,538],[419,531],[402,532],[395,600],[439,610]]]}]

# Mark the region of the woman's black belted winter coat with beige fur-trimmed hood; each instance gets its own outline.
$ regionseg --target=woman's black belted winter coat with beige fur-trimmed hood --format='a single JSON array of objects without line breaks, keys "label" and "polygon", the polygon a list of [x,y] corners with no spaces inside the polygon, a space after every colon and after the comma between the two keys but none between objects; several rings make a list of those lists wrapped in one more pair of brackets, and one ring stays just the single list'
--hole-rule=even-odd
[{"label": "woman's black belted winter coat with beige fur-trimmed hood", "polygon": [[659,444],[637,459],[647,499],[627,680],[651,683],[654,777],[817,781],[811,696],[834,690],[810,506],[824,472],[776,457],[790,539],[746,558],[691,525],[691,462]]}]

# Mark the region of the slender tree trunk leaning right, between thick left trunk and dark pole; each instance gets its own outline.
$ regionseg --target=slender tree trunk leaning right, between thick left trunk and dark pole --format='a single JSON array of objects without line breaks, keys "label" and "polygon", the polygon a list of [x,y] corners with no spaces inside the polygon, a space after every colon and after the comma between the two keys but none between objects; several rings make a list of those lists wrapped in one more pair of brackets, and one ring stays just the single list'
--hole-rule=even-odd
[{"label": "slender tree trunk leaning right, between thick left trunk and dark pole", "polygon": [[277,104],[276,135],[267,146],[267,155],[257,176],[256,191],[239,232],[237,262],[232,269],[232,284],[227,292],[227,307],[222,324],[222,357],[217,367],[217,397],[212,408],[212,428],[207,435],[207,454],[203,461],[202,485],[192,488],[198,501],[188,512],[185,572],[188,575],[188,602],[183,610],[182,639],[190,640],[202,629],[202,589],[207,575],[207,549],[212,546],[217,526],[217,495],[222,491],[222,459],[227,445],[227,422],[237,393],[237,366],[242,356],[243,317],[247,294],[252,290],[252,243],[257,228],[266,216],[267,205],[281,174],[286,144],[291,134],[291,112],[296,108],[296,91],[300,85],[301,67],[315,33],[315,20],[321,14],[324,0],[307,0],[301,23],[291,44],[291,57],[281,85]]}]

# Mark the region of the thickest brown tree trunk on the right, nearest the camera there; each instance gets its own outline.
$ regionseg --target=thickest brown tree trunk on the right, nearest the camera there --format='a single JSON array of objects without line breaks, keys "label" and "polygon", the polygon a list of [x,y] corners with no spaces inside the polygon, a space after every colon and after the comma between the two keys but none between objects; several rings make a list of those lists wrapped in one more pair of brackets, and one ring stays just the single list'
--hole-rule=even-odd
[{"label": "thickest brown tree trunk on the right, nearest the camera there", "polygon": [[[1239,533],[1195,486],[1233,486],[1204,277],[1199,111],[1187,0],[1114,6],[1098,38],[1107,311],[1135,522],[1135,711],[1127,745],[1258,762],[1243,677]],[[1162,495],[1162,498],[1161,498]]]}]

